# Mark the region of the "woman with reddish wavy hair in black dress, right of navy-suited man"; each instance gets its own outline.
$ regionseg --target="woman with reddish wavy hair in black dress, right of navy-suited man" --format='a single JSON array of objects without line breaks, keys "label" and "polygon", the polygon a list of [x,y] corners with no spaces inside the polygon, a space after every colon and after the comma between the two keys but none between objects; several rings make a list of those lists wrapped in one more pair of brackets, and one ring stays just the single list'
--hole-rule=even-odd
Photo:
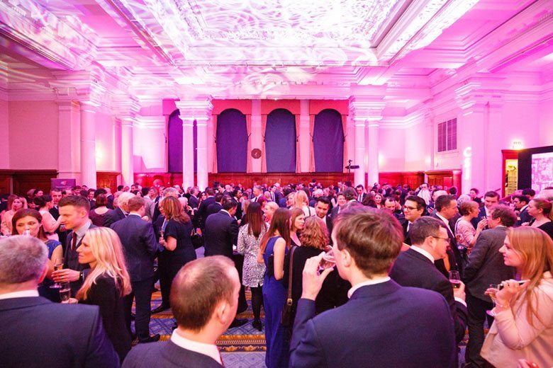
[{"label": "woman with reddish wavy hair in black dress, right of navy-suited man", "polygon": [[182,211],[177,198],[168,196],[161,204],[165,220],[162,225],[160,244],[165,248],[157,257],[160,270],[160,287],[162,292],[162,309],[169,309],[169,294],[171,284],[177,272],[186,263],[196,259],[196,251],[192,245],[192,222]]}]

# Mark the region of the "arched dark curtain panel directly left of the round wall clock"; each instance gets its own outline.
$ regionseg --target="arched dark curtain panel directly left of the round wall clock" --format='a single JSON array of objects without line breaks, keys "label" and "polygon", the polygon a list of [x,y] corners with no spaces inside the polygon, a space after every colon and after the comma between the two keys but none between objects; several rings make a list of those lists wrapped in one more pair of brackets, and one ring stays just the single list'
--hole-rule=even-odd
[{"label": "arched dark curtain panel directly left of the round wall clock", "polygon": [[228,109],[217,117],[217,170],[245,173],[247,165],[246,115]]}]

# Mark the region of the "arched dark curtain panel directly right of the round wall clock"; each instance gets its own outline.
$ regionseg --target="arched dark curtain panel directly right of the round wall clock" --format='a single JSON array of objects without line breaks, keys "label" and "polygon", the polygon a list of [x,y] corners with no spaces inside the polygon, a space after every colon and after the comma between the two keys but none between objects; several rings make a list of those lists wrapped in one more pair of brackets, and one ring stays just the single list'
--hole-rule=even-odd
[{"label": "arched dark curtain panel directly right of the round wall clock", "polygon": [[279,108],[267,115],[265,151],[267,173],[296,172],[296,120],[289,110]]}]

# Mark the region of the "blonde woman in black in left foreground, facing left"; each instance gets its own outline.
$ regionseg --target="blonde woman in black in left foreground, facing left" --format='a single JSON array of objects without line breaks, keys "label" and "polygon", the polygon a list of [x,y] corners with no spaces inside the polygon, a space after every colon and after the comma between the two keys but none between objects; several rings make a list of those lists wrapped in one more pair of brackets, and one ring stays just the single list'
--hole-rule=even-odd
[{"label": "blonde woman in black in left foreground, facing left", "polygon": [[130,350],[123,297],[130,294],[131,287],[119,236],[107,227],[91,228],[86,231],[77,253],[79,263],[88,263],[91,272],[77,292],[76,301],[100,307],[106,335],[123,362]]}]

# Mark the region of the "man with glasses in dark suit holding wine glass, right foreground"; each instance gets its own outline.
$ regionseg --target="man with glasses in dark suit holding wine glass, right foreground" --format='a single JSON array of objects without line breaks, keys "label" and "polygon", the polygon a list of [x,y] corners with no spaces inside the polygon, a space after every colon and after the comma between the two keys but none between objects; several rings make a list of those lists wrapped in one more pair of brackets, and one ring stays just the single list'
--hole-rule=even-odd
[{"label": "man with glasses in dark suit holding wine glass, right foreground", "polygon": [[420,287],[442,294],[453,318],[455,340],[460,343],[467,328],[464,284],[459,280],[459,288],[454,289],[434,265],[435,260],[447,254],[445,224],[432,217],[421,217],[411,226],[410,238],[412,246],[393,263],[390,277],[401,286]]}]

